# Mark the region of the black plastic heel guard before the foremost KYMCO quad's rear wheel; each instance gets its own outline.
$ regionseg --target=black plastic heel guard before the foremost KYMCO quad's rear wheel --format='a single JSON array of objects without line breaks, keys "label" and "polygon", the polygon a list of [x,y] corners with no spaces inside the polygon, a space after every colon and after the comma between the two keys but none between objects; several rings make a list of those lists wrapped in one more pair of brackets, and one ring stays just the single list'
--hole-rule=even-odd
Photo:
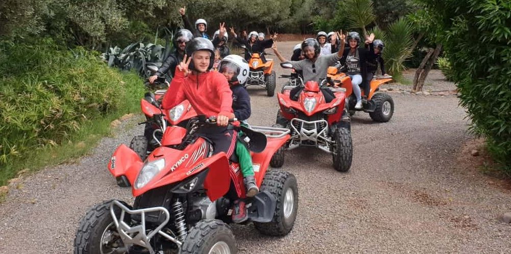
[{"label": "black plastic heel guard before the foremost KYMCO quad's rear wheel", "polygon": [[267,190],[257,193],[247,204],[248,218],[256,222],[270,222],[277,206],[277,200]]}]

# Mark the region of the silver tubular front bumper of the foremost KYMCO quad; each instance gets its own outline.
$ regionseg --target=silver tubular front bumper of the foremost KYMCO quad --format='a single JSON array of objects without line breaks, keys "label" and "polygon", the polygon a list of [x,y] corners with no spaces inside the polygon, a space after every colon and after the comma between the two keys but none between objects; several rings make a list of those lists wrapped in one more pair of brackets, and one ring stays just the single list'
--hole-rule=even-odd
[{"label": "silver tubular front bumper of the foremost KYMCO quad", "polygon": [[[117,215],[115,215],[114,207],[116,206],[121,209],[121,215],[119,216],[119,218],[117,217]],[[161,222],[161,224],[159,224],[158,227],[156,227],[156,229],[148,231],[146,229],[145,215],[146,213],[150,212],[161,212],[165,216],[165,221]],[[124,221],[126,213],[140,214],[141,217],[140,224],[134,226],[128,225],[128,223]],[[123,205],[121,202],[114,200],[110,205],[110,214],[112,215],[113,223],[115,224],[115,227],[117,228],[117,231],[119,232],[121,239],[123,240],[124,244],[128,247],[132,245],[140,245],[144,248],[147,248],[149,250],[149,253],[153,254],[155,252],[154,249],[151,247],[150,240],[156,234],[160,234],[161,236],[177,244],[179,247],[181,247],[182,245],[180,241],[161,231],[161,229],[163,229],[163,227],[169,222],[170,219],[169,211],[165,207],[151,207],[138,210],[131,210],[127,208],[125,205]]]}]

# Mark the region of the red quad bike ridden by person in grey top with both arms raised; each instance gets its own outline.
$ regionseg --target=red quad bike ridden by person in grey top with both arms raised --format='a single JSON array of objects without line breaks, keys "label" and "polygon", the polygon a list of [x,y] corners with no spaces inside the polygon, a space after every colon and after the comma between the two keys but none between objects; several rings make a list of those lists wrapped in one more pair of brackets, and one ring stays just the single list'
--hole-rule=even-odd
[{"label": "red quad bike ridden by person in grey top with both arms raised", "polygon": [[[281,64],[283,68],[291,68],[290,64]],[[337,81],[332,81],[337,82]],[[322,81],[321,88],[327,88],[326,80]],[[350,116],[345,107],[346,90],[343,88],[330,89],[335,98],[327,103],[324,100],[320,86],[315,81],[308,81],[300,92],[298,100],[291,100],[290,92],[294,86],[284,87],[284,93],[278,93],[280,110],[277,113],[277,124],[282,127],[278,119],[287,119],[291,138],[275,154],[275,161],[283,160],[284,151],[297,147],[316,147],[324,152],[331,153],[334,168],[340,172],[350,170],[353,156],[351,138]]]}]

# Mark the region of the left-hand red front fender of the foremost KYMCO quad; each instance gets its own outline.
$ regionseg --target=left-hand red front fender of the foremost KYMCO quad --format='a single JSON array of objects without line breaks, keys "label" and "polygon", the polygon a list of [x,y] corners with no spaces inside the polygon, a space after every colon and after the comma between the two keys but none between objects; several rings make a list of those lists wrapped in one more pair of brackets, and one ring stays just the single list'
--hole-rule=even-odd
[{"label": "left-hand red front fender of the foremost KYMCO quad", "polygon": [[133,185],[138,172],[142,168],[142,160],[135,151],[122,144],[113,152],[110,162],[108,162],[108,171],[115,179],[125,176],[128,182]]}]

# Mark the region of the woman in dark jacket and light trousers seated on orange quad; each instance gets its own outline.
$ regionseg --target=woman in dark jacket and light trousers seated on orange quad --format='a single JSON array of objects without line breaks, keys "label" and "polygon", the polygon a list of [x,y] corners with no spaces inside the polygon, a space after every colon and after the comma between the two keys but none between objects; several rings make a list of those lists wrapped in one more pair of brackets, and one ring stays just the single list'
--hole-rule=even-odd
[{"label": "woman in dark jacket and light trousers seated on orange quad", "polygon": [[[374,35],[370,37],[374,38]],[[353,93],[357,97],[355,108],[360,109],[362,108],[360,84],[367,77],[366,61],[370,52],[366,48],[359,47],[360,35],[357,32],[350,32],[347,36],[347,41],[350,47],[343,50],[341,63],[346,63],[347,74],[352,79]],[[369,38],[368,41],[372,42],[372,38]],[[343,42],[341,41],[341,49],[343,49],[342,47]]]}]

